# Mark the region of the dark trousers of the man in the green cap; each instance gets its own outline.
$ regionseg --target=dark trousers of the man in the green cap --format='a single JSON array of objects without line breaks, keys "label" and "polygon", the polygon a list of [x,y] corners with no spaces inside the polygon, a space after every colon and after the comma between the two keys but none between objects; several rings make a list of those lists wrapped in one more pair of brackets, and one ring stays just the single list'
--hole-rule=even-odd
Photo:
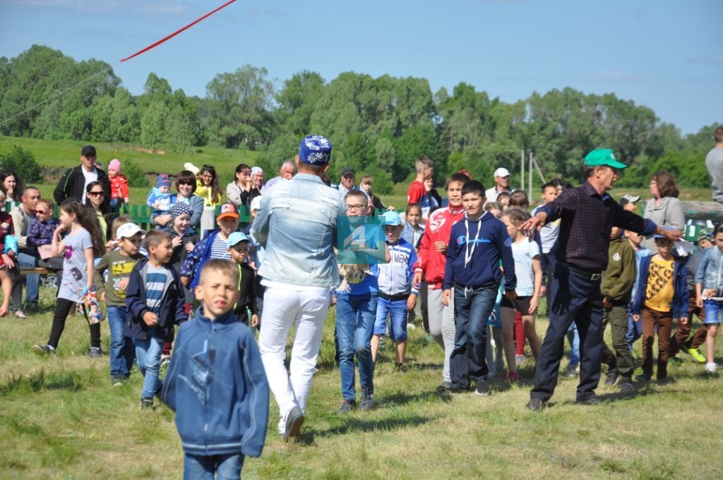
[{"label": "dark trousers of the man in the green cap", "polygon": [[557,385],[557,372],[565,346],[565,335],[573,322],[580,335],[580,383],[577,400],[595,395],[600,380],[602,351],[602,296],[600,280],[569,270],[557,262],[551,282],[552,308],[549,327],[537,359],[531,398],[549,400]]}]

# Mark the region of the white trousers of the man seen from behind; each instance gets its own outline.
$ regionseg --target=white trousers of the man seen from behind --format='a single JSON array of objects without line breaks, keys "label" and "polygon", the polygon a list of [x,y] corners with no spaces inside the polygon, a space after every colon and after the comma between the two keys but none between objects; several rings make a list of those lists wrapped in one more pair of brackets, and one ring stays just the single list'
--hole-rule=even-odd
[{"label": "white trousers of the man seen from behind", "polygon": [[[330,298],[328,288],[296,291],[268,287],[264,293],[259,351],[281,414],[279,433],[283,433],[292,408],[306,411]],[[287,373],[283,361],[291,325],[296,325],[296,335]]]}]

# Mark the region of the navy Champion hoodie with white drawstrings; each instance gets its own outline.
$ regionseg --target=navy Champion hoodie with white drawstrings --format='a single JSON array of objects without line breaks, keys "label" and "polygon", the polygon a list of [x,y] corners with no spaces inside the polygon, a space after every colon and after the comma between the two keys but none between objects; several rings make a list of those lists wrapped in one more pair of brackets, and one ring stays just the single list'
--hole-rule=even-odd
[{"label": "navy Champion hoodie with white drawstrings", "polygon": [[[470,258],[466,262],[467,255]],[[477,220],[471,220],[465,215],[450,231],[442,288],[447,290],[455,283],[469,287],[497,288],[502,280],[500,260],[505,270],[505,291],[513,291],[517,286],[517,278],[507,227],[489,212]]]}]

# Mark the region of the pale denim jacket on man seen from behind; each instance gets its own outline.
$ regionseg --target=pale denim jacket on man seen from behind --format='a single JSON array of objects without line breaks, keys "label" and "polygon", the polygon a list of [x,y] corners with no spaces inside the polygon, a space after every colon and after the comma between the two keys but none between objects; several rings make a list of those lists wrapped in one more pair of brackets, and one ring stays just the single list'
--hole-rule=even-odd
[{"label": "pale denim jacket on man seen from behind", "polygon": [[320,177],[297,173],[262,197],[251,233],[265,247],[264,280],[333,288],[339,284],[334,243],[343,196]]}]

